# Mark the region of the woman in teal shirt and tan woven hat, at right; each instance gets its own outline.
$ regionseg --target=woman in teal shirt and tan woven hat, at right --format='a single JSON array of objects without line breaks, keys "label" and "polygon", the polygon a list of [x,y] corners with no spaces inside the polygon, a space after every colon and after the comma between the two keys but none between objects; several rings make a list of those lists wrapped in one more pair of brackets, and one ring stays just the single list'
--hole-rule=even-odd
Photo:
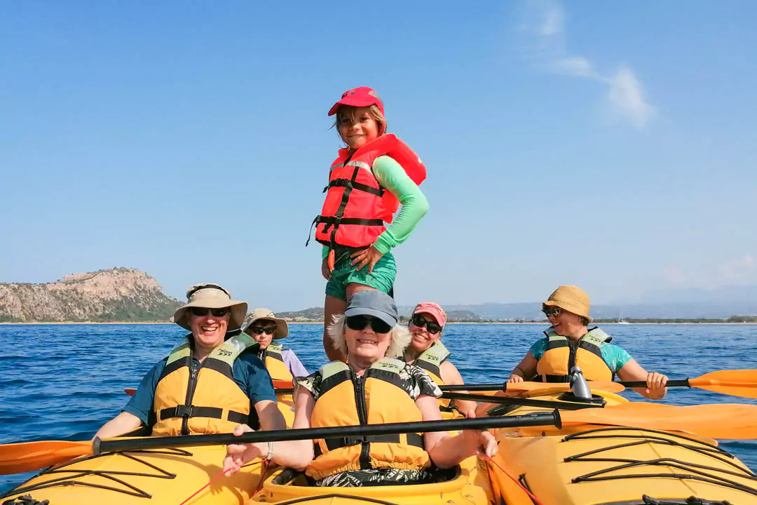
[{"label": "woman in teal shirt and tan woven hat, at right", "polygon": [[544,337],[515,369],[508,382],[538,377],[543,382],[569,382],[573,366],[579,366],[588,380],[646,381],[646,388],[634,388],[647,398],[665,396],[668,377],[647,372],[631,354],[615,344],[599,327],[589,328],[589,296],[574,285],[562,285],[542,304],[550,326]]}]

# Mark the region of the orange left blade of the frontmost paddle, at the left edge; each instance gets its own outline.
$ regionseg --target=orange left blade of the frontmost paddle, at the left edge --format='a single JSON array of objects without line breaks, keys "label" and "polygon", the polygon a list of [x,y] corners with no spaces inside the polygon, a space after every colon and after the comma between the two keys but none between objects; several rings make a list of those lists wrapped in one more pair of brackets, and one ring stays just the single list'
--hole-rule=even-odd
[{"label": "orange left blade of the frontmost paddle, at the left edge", "polygon": [[32,472],[92,454],[92,442],[40,441],[0,445],[0,475]]}]

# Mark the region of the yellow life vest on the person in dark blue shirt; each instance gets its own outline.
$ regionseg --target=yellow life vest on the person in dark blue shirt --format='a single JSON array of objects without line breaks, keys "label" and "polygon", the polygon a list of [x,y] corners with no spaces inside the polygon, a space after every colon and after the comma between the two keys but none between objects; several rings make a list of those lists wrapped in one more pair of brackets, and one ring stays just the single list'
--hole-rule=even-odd
[{"label": "yellow life vest on the person in dark blue shirt", "polygon": [[250,422],[250,398],[232,370],[237,357],[257,342],[245,333],[235,335],[213,349],[198,369],[190,338],[171,351],[158,379],[152,435],[230,433]]}]

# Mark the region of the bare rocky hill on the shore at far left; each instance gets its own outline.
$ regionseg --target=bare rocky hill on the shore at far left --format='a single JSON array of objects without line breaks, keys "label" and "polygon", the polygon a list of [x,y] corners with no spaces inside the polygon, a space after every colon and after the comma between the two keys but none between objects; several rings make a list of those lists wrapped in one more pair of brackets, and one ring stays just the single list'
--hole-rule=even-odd
[{"label": "bare rocky hill on the shore at far left", "polygon": [[48,284],[0,283],[0,322],[167,321],[180,305],[132,268],[74,273]]}]

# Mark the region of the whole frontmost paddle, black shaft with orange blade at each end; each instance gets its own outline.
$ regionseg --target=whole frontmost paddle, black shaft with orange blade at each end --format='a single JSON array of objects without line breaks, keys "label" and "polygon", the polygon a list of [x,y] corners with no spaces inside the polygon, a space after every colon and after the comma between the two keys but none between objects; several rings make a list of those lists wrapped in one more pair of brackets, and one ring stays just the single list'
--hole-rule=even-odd
[{"label": "whole frontmost paddle, black shaft with orange blade at each end", "polygon": [[[190,437],[148,437],[97,441],[41,441],[0,446],[0,475],[30,472],[45,466],[63,463],[73,457],[101,454],[111,450],[138,450],[158,447],[189,447],[229,444],[233,442],[341,438],[345,436],[388,435],[405,432],[447,431],[456,429],[515,428],[600,424],[693,432],[710,438],[757,440],[757,405],[715,404],[676,407],[646,402],[621,404],[603,409],[574,410],[563,413],[540,413],[526,416],[449,419],[395,425],[342,426],[307,430],[233,435],[193,435]],[[400,428],[401,426],[401,428]]]}]

